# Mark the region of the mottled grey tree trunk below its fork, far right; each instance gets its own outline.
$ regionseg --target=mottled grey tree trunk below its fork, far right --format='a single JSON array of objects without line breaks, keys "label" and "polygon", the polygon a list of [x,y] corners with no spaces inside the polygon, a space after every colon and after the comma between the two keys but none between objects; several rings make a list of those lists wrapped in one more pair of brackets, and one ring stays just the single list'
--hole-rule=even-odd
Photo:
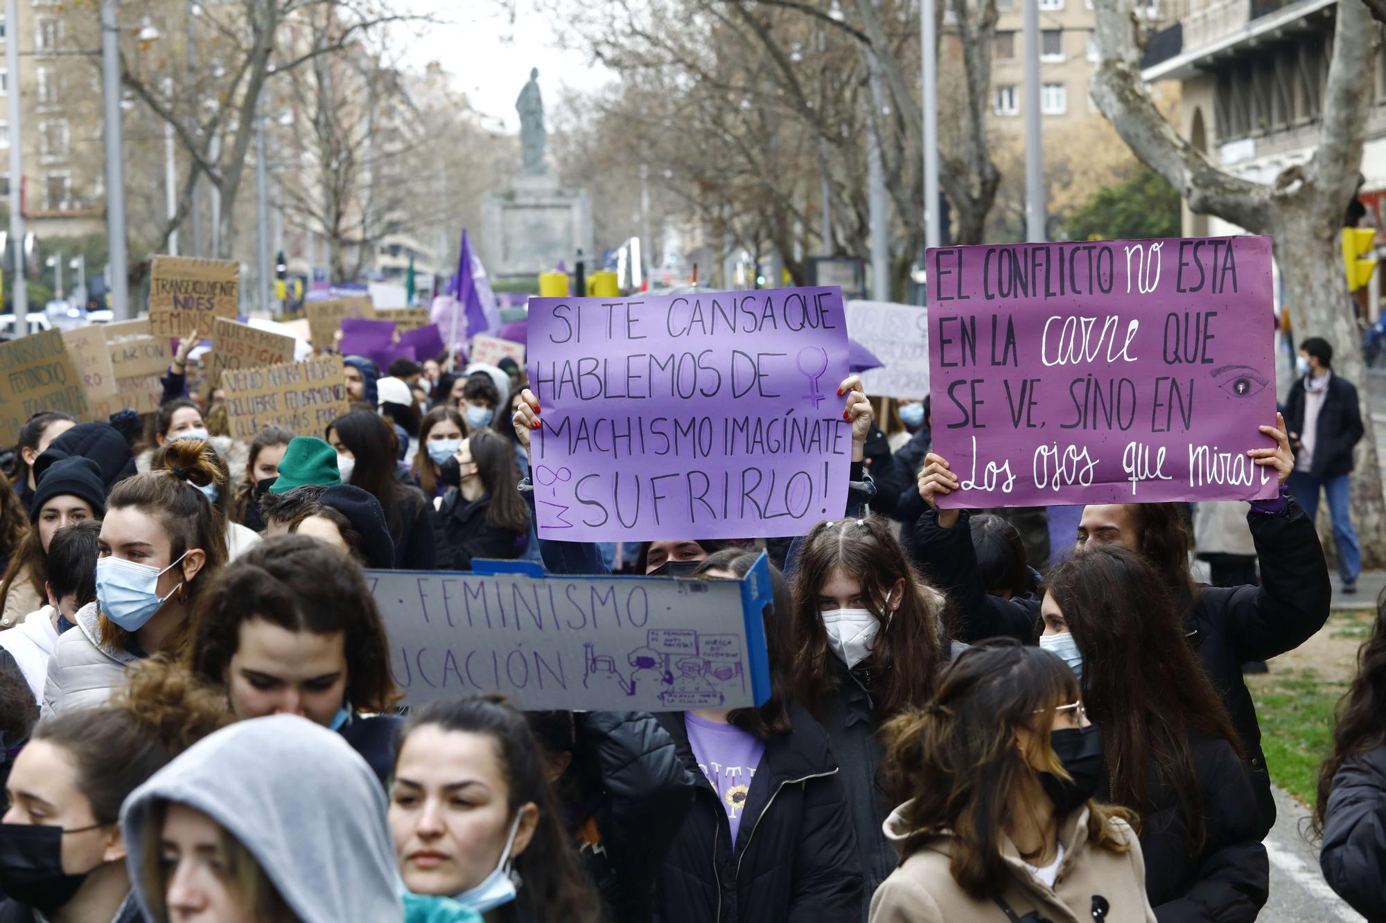
[{"label": "mottled grey tree trunk below its fork, far right", "polygon": [[1353,452],[1353,525],[1362,546],[1362,567],[1375,570],[1386,567],[1386,498],[1382,496],[1367,399],[1367,366],[1358,345],[1361,333],[1349,304],[1343,261],[1336,252],[1324,252],[1325,230],[1333,236],[1335,245],[1337,243],[1337,222],[1329,223],[1332,227],[1325,229],[1324,222],[1307,219],[1281,222],[1275,233],[1275,262],[1281,267],[1296,346],[1307,337],[1322,337],[1333,345],[1333,374],[1357,385],[1364,431]]}]

